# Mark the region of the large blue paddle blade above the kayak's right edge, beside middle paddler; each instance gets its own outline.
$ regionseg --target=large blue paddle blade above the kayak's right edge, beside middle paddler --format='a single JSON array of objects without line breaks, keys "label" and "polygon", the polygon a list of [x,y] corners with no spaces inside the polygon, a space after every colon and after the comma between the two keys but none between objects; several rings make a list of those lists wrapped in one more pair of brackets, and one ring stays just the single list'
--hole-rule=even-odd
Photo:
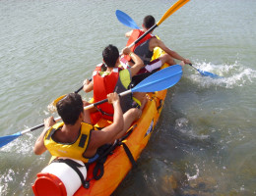
[{"label": "large blue paddle blade above the kayak's right edge, beside middle paddler", "polygon": [[132,92],[155,92],[164,90],[176,84],[181,76],[182,68],[180,65],[170,66],[157,73],[151,74],[131,90]]}]

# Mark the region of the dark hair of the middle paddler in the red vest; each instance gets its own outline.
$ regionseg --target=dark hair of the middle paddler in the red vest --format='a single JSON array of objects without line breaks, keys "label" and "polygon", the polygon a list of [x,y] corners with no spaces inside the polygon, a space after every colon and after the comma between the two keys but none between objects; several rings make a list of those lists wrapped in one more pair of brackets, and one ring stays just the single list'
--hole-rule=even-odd
[{"label": "dark hair of the middle paddler in the red vest", "polygon": [[119,58],[119,51],[117,47],[109,44],[102,51],[102,57],[107,67],[113,68],[117,59]]}]

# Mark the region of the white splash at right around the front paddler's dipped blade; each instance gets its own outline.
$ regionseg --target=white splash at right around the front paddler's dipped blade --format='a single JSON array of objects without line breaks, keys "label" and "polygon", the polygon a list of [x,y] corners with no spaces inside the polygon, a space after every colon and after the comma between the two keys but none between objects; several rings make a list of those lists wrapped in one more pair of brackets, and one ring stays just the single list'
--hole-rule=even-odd
[{"label": "white splash at right around the front paddler's dipped blade", "polygon": [[202,76],[196,71],[188,76],[193,82],[198,83],[202,87],[221,86],[224,88],[234,88],[246,85],[248,82],[252,83],[253,79],[256,78],[256,71],[239,64],[237,61],[233,65],[215,65],[211,62],[197,62],[195,63],[195,67],[202,71],[223,76],[222,78],[211,78]]}]

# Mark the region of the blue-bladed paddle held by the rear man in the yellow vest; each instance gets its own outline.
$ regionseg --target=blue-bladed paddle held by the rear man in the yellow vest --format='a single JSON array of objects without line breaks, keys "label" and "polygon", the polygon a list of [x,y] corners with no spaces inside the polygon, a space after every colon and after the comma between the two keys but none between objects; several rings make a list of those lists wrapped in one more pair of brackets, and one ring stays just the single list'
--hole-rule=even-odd
[{"label": "blue-bladed paddle held by the rear man in the yellow vest", "polygon": [[[160,91],[166,88],[169,88],[176,84],[182,75],[182,68],[179,65],[171,66],[165,69],[160,70],[157,73],[153,73],[152,75],[148,76],[144,80],[142,80],[140,83],[138,83],[134,88],[129,89],[127,91],[124,91],[119,94],[119,96],[124,96],[126,94],[132,93],[132,92],[155,92]],[[88,110],[91,108],[94,108],[95,106],[107,102],[107,99],[104,99],[102,101],[96,102],[94,104],[91,104],[89,106],[84,107],[84,110]],[[60,121],[61,118],[56,118],[55,121]],[[33,126],[32,128],[25,129],[23,131],[17,132],[12,135],[2,136],[0,137],[0,147],[10,143],[14,139],[20,137],[21,135],[28,133],[30,131],[33,131],[37,128],[43,127],[44,124],[38,124],[36,126]]]}]

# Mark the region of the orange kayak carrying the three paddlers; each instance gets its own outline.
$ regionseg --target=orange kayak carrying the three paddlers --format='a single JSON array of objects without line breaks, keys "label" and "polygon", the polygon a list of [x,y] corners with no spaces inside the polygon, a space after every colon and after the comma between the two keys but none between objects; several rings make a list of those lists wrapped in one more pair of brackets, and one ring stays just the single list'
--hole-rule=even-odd
[{"label": "orange kayak carrying the three paddlers", "polygon": [[[161,52],[162,51],[160,49],[157,49],[154,53],[154,59],[158,58]],[[167,67],[167,65],[162,66],[162,68],[165,67]],[[113,193],[113,191],[121,183],[126,174],[132,169],[133,164],[135,163],[133,163],[131,158],[129,158],[128,154],[130,154],[130,157],[132,156],[134,161],[137,161],[143,149],[146,147],[151,134],[153,133],[154,128],[159,121],[160,112],[164,103],[166,92],[167,90],[165,89],[147,94],[148,103],[143,110],[141,118],[137,122],[133,123],[127,130],[127,135],[120,142],[120,145],[117,145],[114,149],[111,150],[111,153],[107,155],[106,161],[103,164],[104,172],[102,176],[96,180],[93,177],[96,164],[94,163],[90,165],[87,170],[87,180],[90,181],[89,186],[84,187],[81,185],[80,188],[76,190],[74,194],[75,196],[105,196],[111,195],[111,193]],[[100,119],[95,125],[98,127],[104,127],[109,123],[111,122]],[[127,153],[127,148],[129,149],[128,151],[130,153]],[[72,181],[73,179],[69,180]],[[63,184],[61,181],[58,181],[57,185],[55,183],[54,186],[63,186]],[[35,190],[38,187],[33,185],[32,188]],[[59,193],[58,195],[66,195],[64,189],[63,192]],[[54,194],[57,194],[57,192]]]}]

